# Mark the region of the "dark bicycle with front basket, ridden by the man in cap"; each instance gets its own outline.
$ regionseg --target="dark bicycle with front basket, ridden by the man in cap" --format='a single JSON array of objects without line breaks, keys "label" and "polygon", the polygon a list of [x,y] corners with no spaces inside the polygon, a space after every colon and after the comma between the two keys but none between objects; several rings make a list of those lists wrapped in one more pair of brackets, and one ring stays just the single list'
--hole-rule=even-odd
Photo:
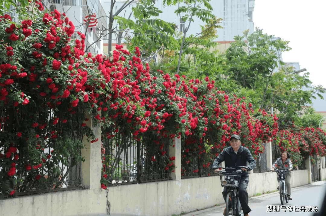
[{"label": "dark bicycle with front basket, ridden by the man in cap", "polygon": [[226,215],[231,216],[243,216],[244,212],[240,205],[238,190],[241,179],[241,168],[248,169],[248,167],[239,166],[236,168],[218,167],[216,169],[225,169],[220,171],[219,176],[221,180],[221,186],[227,188],[226,196]]}]

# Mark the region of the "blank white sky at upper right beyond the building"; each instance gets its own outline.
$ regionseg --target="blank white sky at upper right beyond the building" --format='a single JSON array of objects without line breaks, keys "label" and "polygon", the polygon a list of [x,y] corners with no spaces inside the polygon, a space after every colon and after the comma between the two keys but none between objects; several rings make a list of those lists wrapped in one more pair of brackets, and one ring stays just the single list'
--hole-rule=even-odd
[{"label": "blank white sky at upper right beyond the building", "polygon": [[299,62],[313,85],[326,87],[326,1],[255,0],[255,28],[290,41],[284,62]]}]

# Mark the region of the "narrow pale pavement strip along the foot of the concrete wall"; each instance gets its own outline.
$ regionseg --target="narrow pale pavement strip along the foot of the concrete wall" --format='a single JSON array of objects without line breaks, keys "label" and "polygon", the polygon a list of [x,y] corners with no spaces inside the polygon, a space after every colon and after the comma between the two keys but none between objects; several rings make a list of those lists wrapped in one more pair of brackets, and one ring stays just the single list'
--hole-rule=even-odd
[{"label": "narrow pale pavement strip along the foot of the concrete wall", "polygon": [[[318,181],[318,182],[313,182],[311,185],[322,185],[322,184],[326,184],[326,181]],[[304,187],[307,187],[309,186],[310,184],[306,184],[306,185],[302,185],[302,186],[298,186],[298,187],[294,187],[292,188],[291,190],[292,191],[296,191],[296,190],[299,190],[301,188],[304,188]],[[276,194],[278,194],[279,192],[276,191],[276,192],[273,192],[273,193],[269,193],[269,194],[263,194],[263,195],[260,195],[260,196],[256,196],[256,197],[249,197],[249,202],[251,199],[255,199],[257,197],[266,197],[266,196],[275,196]],[[223,215],[223,211],[224,211],[224,208],[225,208],[225,203],[224,204],[221,204],[219,206],[213,206],[213,207],[210,207],[210,208],[207,208],[207,209],[203,209],[203,210],[197,210],[197,211],[194,211],[194,212],[189,212],[189,213],[186,213],[186,214],[183,214],[182,216],[208,216],[208,215]]]}]

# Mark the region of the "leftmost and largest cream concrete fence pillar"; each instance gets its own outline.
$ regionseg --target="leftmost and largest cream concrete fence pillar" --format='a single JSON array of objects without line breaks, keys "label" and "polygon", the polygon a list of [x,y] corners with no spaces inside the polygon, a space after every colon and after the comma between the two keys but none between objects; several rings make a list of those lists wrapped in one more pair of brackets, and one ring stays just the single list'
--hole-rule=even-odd
[{"label": "leftmost and largest cream concrete fence pillar", "polygon": [[84,157],[85,162],[82,162],[82,184],[87,189],[97,189],[101,187],[101,127],[93,127],[93,121],[89,113],[86,113],[86,118],[89,121],[84,121],[84,123],[93,130],[98,141],[91,143],[87,141],[86,136],[83,138],[82,157]]}]

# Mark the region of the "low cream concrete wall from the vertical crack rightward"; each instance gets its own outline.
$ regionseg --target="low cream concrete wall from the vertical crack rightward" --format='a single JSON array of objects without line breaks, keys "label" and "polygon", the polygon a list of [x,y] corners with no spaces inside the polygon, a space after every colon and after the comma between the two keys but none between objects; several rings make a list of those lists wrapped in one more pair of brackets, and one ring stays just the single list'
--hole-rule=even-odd
[{"label": "low cream concrete wall from the vertical crack rightward", "polygon": [[[308,184],[308,170],[292,172],[292,187]],[[248,194],[276,190],[275,172],[249,174]],[[219,176],[108,188],[111,214],[170,216],[223,204]]]}]

